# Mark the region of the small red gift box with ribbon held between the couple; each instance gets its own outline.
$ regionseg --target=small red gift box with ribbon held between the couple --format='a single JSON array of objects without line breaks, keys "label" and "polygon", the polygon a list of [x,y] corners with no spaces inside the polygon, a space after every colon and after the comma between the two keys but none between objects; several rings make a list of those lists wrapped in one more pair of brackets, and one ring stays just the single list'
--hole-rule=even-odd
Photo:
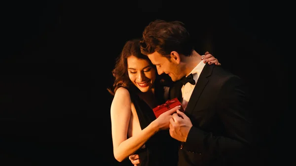
[{"label": "small red gift box with ribbon held between the couple", "polygon": [[157,107],[153,108],[153,112],[156,118],[162,113],[174,108],[175,106],[181,105],[180,111],[184,112],[181,102],[175,98],[172,100],[167,100],[165,103],[158,105]]}]

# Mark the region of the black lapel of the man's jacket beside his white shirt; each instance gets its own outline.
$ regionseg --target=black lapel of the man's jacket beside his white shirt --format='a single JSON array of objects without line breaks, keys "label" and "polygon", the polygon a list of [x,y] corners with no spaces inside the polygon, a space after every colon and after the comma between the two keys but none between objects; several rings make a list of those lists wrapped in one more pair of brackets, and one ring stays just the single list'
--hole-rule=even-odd
[{"label": "black lapel of the man's jacket beside his white shirt", "polygon": [[209,79],[208,77],[212,74],[213,67],[215,65],[208,65],[206,64],[200,73],[200,76],[195,84],[195,87],[193,89],[193,92],[191,94],[191,97],[188,101],[187,107],[186,107],[186,114],[191,114],[197,101],[199,100],[199,97],[204,90],[205,86],[207,85]]}]

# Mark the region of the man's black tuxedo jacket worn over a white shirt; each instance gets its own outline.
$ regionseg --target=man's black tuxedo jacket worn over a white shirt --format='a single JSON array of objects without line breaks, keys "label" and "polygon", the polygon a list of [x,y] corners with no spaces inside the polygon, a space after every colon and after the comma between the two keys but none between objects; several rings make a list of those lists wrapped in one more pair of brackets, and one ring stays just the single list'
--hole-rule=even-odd
[{"label": "man's black tuxedo jacket worn over a white shirt", "polygon": [[[180,87],[173,84],[170,99],[180,96]],[[185,110],[193,127],[179,149],[179,166],[247,165],[253,135],[246,92],[238,76],[204,66]]]}]

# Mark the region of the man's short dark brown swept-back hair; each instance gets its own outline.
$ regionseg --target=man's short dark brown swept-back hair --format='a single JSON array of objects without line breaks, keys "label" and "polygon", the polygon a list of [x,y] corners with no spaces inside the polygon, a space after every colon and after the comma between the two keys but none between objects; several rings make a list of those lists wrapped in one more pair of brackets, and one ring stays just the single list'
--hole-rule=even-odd
[{"label": "man's short dark brown swept-back hair", "polygon": [[155,20],[145,28],[140,42],[144,55],[157,51],[169,56],[172,51],[190,56],[194,46],[184,23],[180,21]]}]

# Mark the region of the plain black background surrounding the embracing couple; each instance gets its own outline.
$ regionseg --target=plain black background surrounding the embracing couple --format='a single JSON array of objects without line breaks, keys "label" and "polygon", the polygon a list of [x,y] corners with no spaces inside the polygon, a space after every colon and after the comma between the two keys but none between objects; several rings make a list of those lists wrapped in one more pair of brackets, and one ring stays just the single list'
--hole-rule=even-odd
[{"label": "plain black background surrounding the embracing couple", "polygon": [[[221,1],[11,1],[2,4],[1,166],[119,166],[107,87],[128,39],[155,19],[179,20],[254,94],[264,163],[290,163],[290,4]],[[287,12],[288,11],[288,12]],[[289,57],[289,58],[288,58]],[[291,117],[291,116],[290,116]],[[295,156],[294,156],[295,158]],[[261,161],[261,162],[262,162]],[[125,161],[122,165],[129,165]]]}]

